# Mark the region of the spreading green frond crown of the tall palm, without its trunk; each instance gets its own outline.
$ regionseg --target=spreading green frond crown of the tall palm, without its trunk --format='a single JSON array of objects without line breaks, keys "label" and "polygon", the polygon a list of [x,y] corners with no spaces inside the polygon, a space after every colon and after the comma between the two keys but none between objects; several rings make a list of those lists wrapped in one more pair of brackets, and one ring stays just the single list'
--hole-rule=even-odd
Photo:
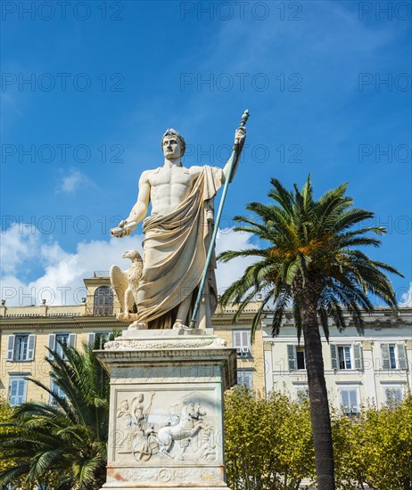
[{"label": "spreading green frond crown of the tall palm, without its trunk", "polygon": [[394,291],[385,273],[401,275],[400,272],[372,260],[359,249],[381,245],[379,239],[370,235],[382,235],[385,229],[367,224],[375,215],[353,206],[352,198],[346,195],[348,184],[325,192],[318,200],[313,198],[310,176],[301,190],[295,184],[293,192],[287,191],[277,179],[271,179],[271,185],[268,192],[271,203],[251,202],[247,209],[253,216],[236,216],[236,220],[243,221],[236,229],[253,233],[255,238],[268,242],[268,246],[227,250],[219,256],[224,262],[235,257],[260,258],[227,288],[224,305],[239,302],[243,311],[254,294],[263,288],[272,290],[275,300],[272,334],[278,333],[284,307],[292,300],[300,337],[301,314],[306,306],[299,298],[303,290],[317,289],[316,294],[307,297],[317,298],[318,322],[326,339],[329,318],[339,331],[346,327],[343,310],[361,332],[362,314],[373,309],[368,298],[371,294],[396,307]]}]

